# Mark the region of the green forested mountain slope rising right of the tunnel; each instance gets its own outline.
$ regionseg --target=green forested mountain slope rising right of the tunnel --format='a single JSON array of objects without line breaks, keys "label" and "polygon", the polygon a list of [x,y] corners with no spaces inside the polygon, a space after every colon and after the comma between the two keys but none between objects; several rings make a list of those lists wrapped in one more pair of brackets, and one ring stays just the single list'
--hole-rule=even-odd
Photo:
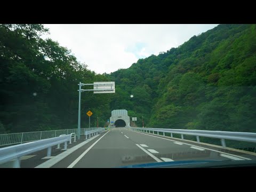
[{"label": "green forested mountain slope rising right of the tunnel", "polygon": [[219,25],[110,78],[111,108],[138,126],[256,132],[256,25]]}]

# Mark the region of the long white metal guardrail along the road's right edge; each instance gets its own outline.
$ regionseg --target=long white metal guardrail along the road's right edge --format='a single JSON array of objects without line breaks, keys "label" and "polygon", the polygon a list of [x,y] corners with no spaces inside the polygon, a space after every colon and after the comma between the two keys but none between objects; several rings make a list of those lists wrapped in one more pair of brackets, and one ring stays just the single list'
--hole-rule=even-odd
[{"label": "long white metal guardrail along the road's right edge", "polygon": [[256,133],[250,132],[230,132],[230,131],[205,131],[205,130],[182,130],[182,129],[158,129],[158,128],[141,128],[141,127],[128,127],[129,129],[135,131],[149,132],[153,133],[162,132],[165,136],[165,133],[171,133],[171,137],[173,137],[173,133],[181,134],[181,139],[183,139],[183,135],[194,135],[196,136],[197,142],[200,142],[199,137],[208,137],[208,138],[217,138],[221,140],[222,147],[226,147],[225,139],[235,140],[235,141],[246,141],[246,142],[256,142]]}]

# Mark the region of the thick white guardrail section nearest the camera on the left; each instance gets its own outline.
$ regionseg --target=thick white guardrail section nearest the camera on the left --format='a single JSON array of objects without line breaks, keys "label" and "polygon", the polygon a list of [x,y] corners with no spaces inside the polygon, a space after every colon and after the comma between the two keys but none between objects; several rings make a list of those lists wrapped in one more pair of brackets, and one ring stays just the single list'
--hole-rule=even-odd
[{"label": "thick white guardrail section nearest the camera on the left", "polygon": [[28,143],[22,143],[15,146],[4,147],[0,149],[0,164],[12,161],[14,168],[20,167],[20,157],[34,153],[47,148],[47,157],[51,156],[52,146],[65,143],[64,149],[67,149],[67,142],[70,141],[71,134],[61,135],[60,137],[43,139]]}]

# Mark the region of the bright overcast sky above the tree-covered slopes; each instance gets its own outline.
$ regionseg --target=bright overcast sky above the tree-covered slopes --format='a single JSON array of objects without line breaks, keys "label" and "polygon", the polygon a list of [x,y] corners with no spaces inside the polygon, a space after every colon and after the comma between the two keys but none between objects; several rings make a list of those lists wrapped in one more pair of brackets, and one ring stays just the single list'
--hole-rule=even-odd
[{"label": "bright overcast sky above the tree-covered slopes", "polygon": [[178,47],[216,24],[44,24],[50,37],[67,47],[95,73],[129,68],[138,59]]}]

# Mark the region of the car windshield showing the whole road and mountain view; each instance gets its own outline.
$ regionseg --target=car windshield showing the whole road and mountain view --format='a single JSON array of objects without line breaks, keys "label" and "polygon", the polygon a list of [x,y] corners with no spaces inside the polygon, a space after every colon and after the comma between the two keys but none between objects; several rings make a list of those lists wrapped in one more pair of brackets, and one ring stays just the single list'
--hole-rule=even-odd
[{"label": "car windshield showing the whole road and mountain view", "polygon": [[0,24],[0,167],[252,164],[255,29]]}]

